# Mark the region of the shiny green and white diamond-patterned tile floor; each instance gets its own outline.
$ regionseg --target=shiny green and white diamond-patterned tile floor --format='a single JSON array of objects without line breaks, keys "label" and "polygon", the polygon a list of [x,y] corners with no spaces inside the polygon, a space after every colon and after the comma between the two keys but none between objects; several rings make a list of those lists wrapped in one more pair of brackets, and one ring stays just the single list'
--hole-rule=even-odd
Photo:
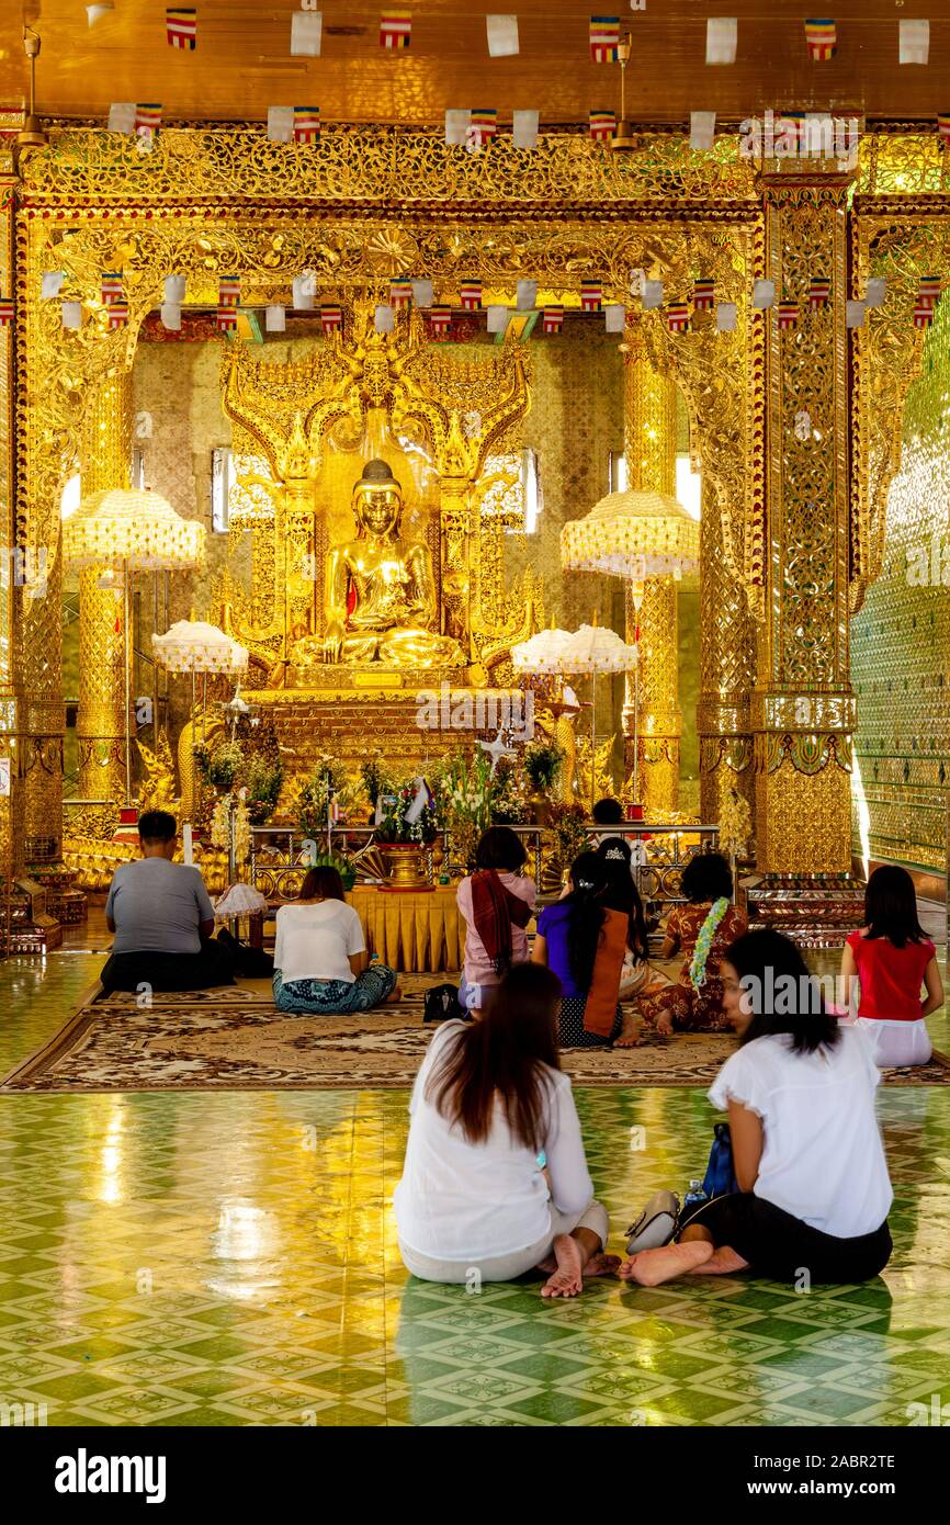
[{"label": "shiny green and white diamond-patterned tile floor", "polygon": [[[99,959],[0,965],[0,1064]],[[895,1255],[862,1287],[416,1283],[406,1093],[0,1098],[0,1405],[55,1424],[863,1426],[950,1401],[950,1095],[880,1098]],[[578,1093],[615,1243],[708,1151],[692,1090]],[[642,1145],[642,1147],[640,1147]]]}]

